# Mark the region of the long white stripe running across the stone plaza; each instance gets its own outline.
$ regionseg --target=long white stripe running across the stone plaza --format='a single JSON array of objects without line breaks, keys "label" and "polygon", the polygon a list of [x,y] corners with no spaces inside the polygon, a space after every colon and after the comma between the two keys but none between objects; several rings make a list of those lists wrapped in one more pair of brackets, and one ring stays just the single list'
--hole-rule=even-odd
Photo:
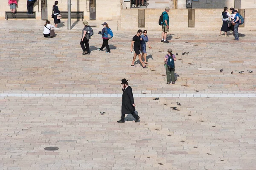
[{"label": "long white stripe running across the stone plaza", "polygon": [[[256,94],[133,94],[134,97],[256,97]],[[122,94],[17,94],[2,93],[0,97],[122,97]]]}]

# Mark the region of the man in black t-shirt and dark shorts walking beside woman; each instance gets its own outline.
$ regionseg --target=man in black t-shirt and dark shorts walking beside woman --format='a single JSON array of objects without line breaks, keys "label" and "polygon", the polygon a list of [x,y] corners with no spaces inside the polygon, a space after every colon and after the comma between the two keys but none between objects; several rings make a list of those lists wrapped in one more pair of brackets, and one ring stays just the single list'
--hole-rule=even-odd
[{"label": "man in black t-shirt and dark shorts walking beside woman", "polygon": [[137,67],[136,65],[134,65],[134,62],[135,62],[135,59],[137,57],[137,55],[139,56],[139,60],[140,60],[140,63],[141,65],[143,66],[143,68],[147,68],[147,65],[145,65],[143,62],[142,62],[142,57],[140,55],[140,41],[142,40],[142,38],[140,38],[140,35],[142,34],[142,30],[139,29],[137,31],[137,34],[133,37],[132,41],[131,41],[131,53],[132,53],[132,46],[134,46],[134,57],[132,59],[132,62],[131,62],[131,66],[134,66],[134,67]]}]

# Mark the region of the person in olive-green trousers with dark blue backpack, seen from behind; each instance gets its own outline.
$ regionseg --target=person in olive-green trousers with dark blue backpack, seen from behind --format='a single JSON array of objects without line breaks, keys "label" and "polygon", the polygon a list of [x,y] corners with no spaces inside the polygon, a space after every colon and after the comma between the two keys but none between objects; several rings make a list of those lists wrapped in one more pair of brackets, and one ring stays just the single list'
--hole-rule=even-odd
[{"label": "person in olive-green trousers with dark blue backpack, seen from behind", "polygon": [[164,67],[166,68],[166,77],[167,82],[166,84],[171,84],[170,79],[172,79],[172,84],[175,84],[175,77],[174,77],[174,71],[175,71],[175,64],[174,61],[176,61],[176,57],[174,54],[172,54],[172,48],[168,49],[168,54],[164,57]]}]

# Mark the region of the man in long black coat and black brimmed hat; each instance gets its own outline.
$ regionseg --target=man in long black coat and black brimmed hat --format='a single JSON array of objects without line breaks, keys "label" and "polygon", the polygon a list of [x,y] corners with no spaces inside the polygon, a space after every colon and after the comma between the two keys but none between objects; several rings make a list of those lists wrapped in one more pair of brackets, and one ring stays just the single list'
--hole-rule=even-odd
[{"label": "man in long black coat and black brimmed hat", "polygon": [[134,116],[135,122],[139,122],[140,117],[134,112],[135,111],[135,106],[134,105],[134,98],[132,94],[132,89],[128,85],[128,80],[122,79],[122,116],[118,123],[124,123],[125,122],[125,114],[131,114]]}]

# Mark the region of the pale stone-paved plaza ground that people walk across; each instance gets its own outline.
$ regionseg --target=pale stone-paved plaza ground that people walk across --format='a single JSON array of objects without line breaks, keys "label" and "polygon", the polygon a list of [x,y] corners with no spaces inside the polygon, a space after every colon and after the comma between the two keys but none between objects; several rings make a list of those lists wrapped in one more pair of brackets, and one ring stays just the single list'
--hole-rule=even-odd
[{"label": "pale stone-paved plaza ground that people walk across", "polygon": [[[26,22],[0,21],[0,170],[256,170],[255,31],[239,28],[240,41],[170,31],[169,44],[148,31],[143,69],[138,59],[131,67],[137,30],[113,30],[105,54],[93,28],[82,55],[81,21],[55,38],[43,37],[44,21]],[[179,54],[175,85],[166,84],[168,48]],[[123,78],[138,123],[116,122]]]}]

